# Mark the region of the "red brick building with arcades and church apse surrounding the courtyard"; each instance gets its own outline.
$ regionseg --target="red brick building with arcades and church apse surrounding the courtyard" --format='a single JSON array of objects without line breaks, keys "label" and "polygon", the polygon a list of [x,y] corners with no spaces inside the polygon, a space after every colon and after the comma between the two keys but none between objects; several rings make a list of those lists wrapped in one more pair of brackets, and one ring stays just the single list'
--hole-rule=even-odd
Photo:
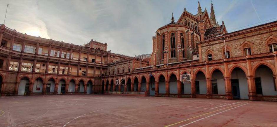
[{"label": "red brick building with arcades and church apse surrounding the courtyard", "polygon": [[[157,29],[149,59],[21,34],[1,25],[1,94],[134,94],[277,99],[277,22],[228,33],[198,3]],[[94,61],[94,62],[93,62]],[[36,66],[34,66],[36,65]],[[57,71],[58,70],[58,71]],[[180,75],[191,80],[181,82]],[[124,79],[126,85],[116,85]],[[23,92],[22,92],[23,91]],[[20,94],[19,94],[20,93]]]}]

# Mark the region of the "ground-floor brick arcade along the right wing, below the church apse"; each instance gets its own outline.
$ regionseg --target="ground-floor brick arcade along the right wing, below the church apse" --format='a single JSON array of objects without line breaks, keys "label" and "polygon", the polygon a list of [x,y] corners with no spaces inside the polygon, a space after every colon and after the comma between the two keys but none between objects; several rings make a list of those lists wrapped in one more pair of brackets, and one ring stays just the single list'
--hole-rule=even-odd
[{"label": "ground-floor brick arcade along the right wing, below the church apse", "polygon": [[[103,79],[102,85],[106,94],[111,93],[109,91],[143,91],[147,96],[277,100],[277,78],[271,64],[261,62],[250,71],[239,64],[226,68],[224,65],[204,66],[126,75],[126,85],[115,84],[115,80],[122,77]],[[191,74],[191,81],[181,82],[179,76],[186,73]]]}]

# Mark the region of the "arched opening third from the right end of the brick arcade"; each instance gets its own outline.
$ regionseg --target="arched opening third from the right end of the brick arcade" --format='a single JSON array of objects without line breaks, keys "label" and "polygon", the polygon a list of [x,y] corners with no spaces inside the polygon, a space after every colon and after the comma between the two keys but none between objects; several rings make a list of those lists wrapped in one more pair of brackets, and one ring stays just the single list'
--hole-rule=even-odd
[{"label": "arched opening third from the right end of the brick arcade", "polygon": [[225,81],[222,72],[218,69],[212,72],[212,94],[225,95]]}]

